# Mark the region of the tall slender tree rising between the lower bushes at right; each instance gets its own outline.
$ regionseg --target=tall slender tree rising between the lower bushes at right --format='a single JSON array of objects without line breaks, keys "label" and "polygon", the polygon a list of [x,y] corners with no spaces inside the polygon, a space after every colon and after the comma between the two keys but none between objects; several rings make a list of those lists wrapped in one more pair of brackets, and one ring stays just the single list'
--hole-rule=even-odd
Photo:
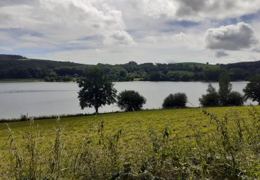
[{"label": "tall slender tree rising between the lower bushes at right", "polygon": [[220,104],[223,106],[227,106],[228,96],[232,90],[232,84],[230,83],[230,78],[227,72],[223,72],[220,74],[218,84],[219,84],[218,95],[219,95]]}]

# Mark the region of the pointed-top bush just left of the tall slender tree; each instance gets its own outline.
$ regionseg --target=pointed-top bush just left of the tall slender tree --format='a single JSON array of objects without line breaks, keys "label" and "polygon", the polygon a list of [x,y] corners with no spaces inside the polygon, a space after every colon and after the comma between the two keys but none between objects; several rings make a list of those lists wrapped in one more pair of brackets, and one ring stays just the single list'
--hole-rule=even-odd
[{"label": "pointed-top bush just left of the tall slender tree", "polygon": [[202,95],[199,101],[202,107],[215,107],[220,105],[218,92],[210,83],[207,88],[207,94]]}]

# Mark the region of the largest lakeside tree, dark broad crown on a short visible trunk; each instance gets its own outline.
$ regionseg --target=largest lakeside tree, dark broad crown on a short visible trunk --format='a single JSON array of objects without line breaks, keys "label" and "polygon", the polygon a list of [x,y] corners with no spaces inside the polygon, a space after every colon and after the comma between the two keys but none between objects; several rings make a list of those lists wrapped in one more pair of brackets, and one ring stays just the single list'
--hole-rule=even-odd
[{"label": "largest lakeside tree, dark broad crown on a short visible trunk", "polygon": [[78,98],[80,107],[94,107],[96,114],[98,108],[103,105],[111,105],[116,102],[116,89],[114,84],[107,78],[107,75],[101,69],[89,69],[85,73],[85,78],[78,80]]}]

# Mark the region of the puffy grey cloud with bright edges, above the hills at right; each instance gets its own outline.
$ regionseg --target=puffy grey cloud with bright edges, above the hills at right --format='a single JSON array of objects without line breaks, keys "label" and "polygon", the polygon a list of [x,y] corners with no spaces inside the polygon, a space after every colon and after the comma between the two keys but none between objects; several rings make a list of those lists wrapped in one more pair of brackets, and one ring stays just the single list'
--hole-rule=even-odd
[{"label": "puffy grey cloud with bright edges, above the hills at right", "polygon": [[205,41],[207,48],[231,51],[251,48],[258,42],[252,26],[243,22],[210,28],[205,34]]}]

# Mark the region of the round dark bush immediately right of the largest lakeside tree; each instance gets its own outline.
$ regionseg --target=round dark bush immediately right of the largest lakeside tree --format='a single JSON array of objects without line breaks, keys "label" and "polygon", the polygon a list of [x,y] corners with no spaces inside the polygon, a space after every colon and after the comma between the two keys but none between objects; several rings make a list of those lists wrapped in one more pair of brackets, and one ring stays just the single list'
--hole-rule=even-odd
[{"label": "round dark bush immediately right of the largest lakeside tree", "polygon": [[146,103],[146,98],[137,91],[125,90],[117,96],[117,105],[125,111],[139,111]]}]

